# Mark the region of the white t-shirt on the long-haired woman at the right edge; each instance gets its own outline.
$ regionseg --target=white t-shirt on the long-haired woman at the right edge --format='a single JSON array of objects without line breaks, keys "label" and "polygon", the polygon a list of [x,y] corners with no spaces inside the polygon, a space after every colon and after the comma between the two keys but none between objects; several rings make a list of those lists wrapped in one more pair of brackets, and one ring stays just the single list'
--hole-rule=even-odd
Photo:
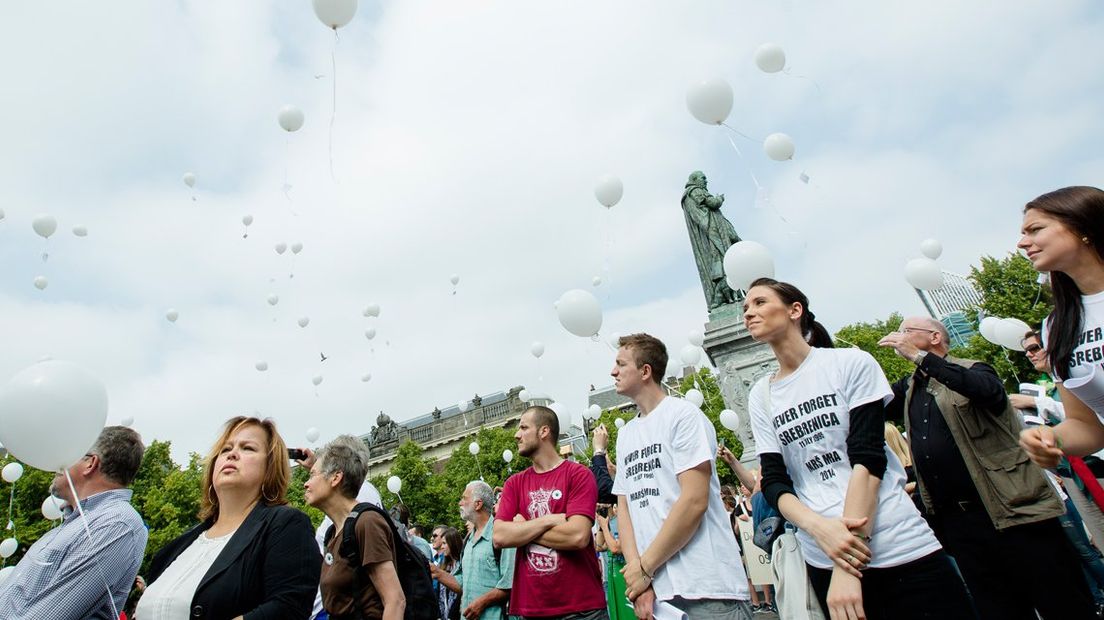
[{"label": "white t-shirt on the long-haired woman at the right edge", "polygon": [[[1081,296],[1084,321],[1078,345],[1070,357],[1065,388],[1096,414],[1104,424],[1104,292]],[[1050,320],[1043,321],[1043,346],[1050,335]]]}]

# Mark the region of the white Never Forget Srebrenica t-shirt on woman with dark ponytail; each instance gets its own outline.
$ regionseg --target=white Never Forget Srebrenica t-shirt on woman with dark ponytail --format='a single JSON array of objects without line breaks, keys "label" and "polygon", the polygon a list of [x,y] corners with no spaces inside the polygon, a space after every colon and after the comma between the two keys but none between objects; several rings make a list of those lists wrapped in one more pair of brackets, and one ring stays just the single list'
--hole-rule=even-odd
[{"label": "white Never Forget Srebrenica t-shirt on woman with dark ponytail", "polygon": [[[851,480],[847,455],[850,410],[893,398],[878,362],[858,349],[813,349],[794,374],[752,388],[747,408],[760,453],[783,456],[797,499],[826,517],[843,514]],[[768,405],[769,403],[769,405]],[[878,489],[870,566],[884,568],[919,559],[941,548],[935,534],[904,492],[901,461],[887,446],[887,468]],[[816,539],[799,531],[805,562],[831,568]]]}]

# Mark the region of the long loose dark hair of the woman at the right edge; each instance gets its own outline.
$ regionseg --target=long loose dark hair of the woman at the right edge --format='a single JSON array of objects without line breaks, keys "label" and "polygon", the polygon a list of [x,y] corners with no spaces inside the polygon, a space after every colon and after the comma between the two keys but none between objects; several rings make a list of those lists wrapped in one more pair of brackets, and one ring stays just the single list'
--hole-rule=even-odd
[{"label": "long loose dark hair of the woman at the right edge", "polygon": [[[1104,259],[1104,191],[1087,185],[1062,188],[1029,202],[1023,213],[1032,210],[1061,222]],[[1082,292],[1073,278],[1062,271],[1050,272],[1050,288],[1054,292],[1054,310],[1047,320],[1047,356],[1054,374],[1066,380],[1084,323]]]}]

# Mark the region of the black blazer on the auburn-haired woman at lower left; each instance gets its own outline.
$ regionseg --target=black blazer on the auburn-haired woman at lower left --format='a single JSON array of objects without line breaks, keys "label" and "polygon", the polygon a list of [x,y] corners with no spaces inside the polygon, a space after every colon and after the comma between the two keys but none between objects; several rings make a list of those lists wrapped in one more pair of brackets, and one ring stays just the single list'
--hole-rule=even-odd
[{"label": "black blazer on the auburn-haired woman at lower left", "polygon": [[[184,532],[153,556],[149,582],[211,527]],[[299,620],[310,618],[322,570],[307,515],[290,506],[257,503],[192,595],[192,618]]]}]

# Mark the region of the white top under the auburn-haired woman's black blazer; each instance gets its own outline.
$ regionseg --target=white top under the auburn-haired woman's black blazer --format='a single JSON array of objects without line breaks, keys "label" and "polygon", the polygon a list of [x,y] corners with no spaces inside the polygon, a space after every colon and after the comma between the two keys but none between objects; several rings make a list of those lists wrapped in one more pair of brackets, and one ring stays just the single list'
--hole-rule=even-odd
[{"label": "white top under the auburn-haired woman's black blazer", "polygon": [[217,538],[208,538],[206,532],[200,534],[195,542],[188,545],[188,548],[164,568],[164,573],[146,588],[138,599],[138,607],[135,608],[135,618],[142,620],[190,618],[192,597],[195,596],[200,581],[233,535],[231,532]]}]

